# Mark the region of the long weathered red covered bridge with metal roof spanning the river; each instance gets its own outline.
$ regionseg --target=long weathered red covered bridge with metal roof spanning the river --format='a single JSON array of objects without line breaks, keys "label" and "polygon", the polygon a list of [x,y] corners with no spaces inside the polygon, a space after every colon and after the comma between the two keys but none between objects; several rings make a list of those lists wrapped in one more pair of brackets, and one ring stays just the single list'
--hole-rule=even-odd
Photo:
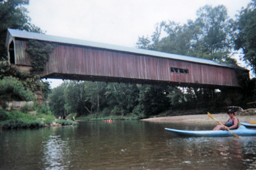
[{"label": "long weathered red covered bridge with metal roof spanning the river", "polygon": [[12,64],[31,66],[31,39],[57,44],[44,78],[224,88],[239,87],[238,72],[249,77],[248,70],[206,59],[8,29]]}]

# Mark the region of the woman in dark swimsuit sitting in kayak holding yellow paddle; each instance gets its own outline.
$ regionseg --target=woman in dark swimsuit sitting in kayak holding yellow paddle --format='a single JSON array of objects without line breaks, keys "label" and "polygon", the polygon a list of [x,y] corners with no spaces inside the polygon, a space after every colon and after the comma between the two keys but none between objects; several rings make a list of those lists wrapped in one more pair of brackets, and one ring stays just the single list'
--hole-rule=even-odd
[{"label": "woman in dark swimsuit sitting in kayak holding yellow paddle", "polygon": [[238,128],[239,120],[236,118],[235,112],[232,109],[229,109],[227,111],[227,114],[230,116],[230,119],[228,119],[226,123],[223,123],[223,125],[225,125],[227,127],[224,127],[222,125],[217,125],[216,127],[214,127],[213,130],[227,130],[227,129],[237,129]]}]

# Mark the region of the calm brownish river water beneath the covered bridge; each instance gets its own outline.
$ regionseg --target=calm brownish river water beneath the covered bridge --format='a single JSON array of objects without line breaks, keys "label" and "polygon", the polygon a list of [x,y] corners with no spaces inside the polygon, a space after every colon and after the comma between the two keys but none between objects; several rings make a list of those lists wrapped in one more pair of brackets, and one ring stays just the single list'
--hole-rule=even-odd
[{"label": "calm brownish river water beneath the covered bridge", "polygon": [[0,170],[255,170],[256,137],[179,137],[145,121],[0,131]]}]

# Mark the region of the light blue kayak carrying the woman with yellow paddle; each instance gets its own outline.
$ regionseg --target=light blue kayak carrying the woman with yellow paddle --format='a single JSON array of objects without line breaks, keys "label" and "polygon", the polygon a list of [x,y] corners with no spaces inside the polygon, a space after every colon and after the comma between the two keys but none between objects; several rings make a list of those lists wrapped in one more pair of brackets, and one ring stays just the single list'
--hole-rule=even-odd
[{"label": "light blue kayak carrying the woman with yellow paddle", "polygon": [[[207,136],[207,137],[227,137],[233,136],[228,130],[176,130],[165,128],[169,132],[179,135],[179,136]],[[236,130],[231,130],[238,136],[256,136],[256,130],[247,129],[245,126],[241,125]]]}]

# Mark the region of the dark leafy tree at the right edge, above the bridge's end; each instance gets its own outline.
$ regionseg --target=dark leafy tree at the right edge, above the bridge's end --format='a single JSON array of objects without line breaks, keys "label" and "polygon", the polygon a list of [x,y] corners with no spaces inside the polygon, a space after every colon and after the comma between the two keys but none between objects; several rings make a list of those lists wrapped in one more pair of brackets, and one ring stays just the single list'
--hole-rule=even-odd
[{"label": "dark leafy tree at the right edge, above the bridge's end", "polygon": [[242,49],[246,61],[256,73],[256,0],[242,8],[236,20],[235,49]]}]

